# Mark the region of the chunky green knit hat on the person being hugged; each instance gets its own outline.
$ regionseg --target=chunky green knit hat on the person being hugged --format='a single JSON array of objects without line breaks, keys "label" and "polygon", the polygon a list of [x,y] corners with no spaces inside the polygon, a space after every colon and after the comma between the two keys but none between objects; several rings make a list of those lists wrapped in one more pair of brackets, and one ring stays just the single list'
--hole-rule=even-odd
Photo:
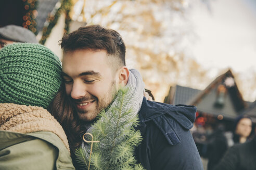
[{"label": "chunky green knit hat on the person being hugged", "polygon": [[39,44],[15,43],[0,50],[0,103],[47,108],[61,84],[61,63]]}]

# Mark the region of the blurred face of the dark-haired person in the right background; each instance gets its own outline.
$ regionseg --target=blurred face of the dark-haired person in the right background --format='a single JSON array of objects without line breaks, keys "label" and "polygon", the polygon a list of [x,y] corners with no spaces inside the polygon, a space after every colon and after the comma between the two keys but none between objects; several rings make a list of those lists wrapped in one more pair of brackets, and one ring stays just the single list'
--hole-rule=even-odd
[{"label": "blurred face of the dark-haired person in the right background", "polygon": [[242,118],[236,127],[236,134],[248,137],[252,130],[252,123],[249,118]]}]

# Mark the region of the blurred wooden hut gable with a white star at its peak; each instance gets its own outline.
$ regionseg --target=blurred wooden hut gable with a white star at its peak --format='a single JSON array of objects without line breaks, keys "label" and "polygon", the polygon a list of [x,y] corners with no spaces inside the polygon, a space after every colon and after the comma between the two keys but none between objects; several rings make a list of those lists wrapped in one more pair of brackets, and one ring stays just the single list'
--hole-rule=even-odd
[{"label": "blurred wooden hut gable with a white star at its peak", "polygon": [[235,118],[246,108],[231,70],[217,77],[188,104],[196,106],[199,112],[224,118]]}]

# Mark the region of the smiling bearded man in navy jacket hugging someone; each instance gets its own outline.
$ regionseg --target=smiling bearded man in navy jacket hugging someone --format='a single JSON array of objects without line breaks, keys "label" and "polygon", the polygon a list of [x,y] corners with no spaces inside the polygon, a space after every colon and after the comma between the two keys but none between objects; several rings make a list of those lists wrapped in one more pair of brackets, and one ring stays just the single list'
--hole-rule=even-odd
[{"label": "smiling bearded man in navy jacket hugging someone", "polygon": [[112,105],[112,93],[128,84],[130,87],[135,76],[138,81],[132,85],[136,88],[131,102],[137,109],[140,120],[137,129],[143,137],[135,150],[137,162],[146,169],[203,169],[189,132],[196,108],[143,98],[143,86],[139,86],[143,82],[137,72],[125,66],[125,45],[118,32],[99,25],[81,27],[64,36],[60,45],[64,50],[62,72],[66,94],[85,127],[95,121],[101,109]]}]

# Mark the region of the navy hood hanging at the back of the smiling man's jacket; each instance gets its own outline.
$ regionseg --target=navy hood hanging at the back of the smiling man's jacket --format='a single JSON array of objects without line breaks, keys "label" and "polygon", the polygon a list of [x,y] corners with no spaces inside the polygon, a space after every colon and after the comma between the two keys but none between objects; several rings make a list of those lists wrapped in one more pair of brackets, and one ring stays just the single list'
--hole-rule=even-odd
[{"label": "navy hood hanging at the back of the smiling man's jacket", "polygon": [[142,107],[139,111],[139,117],[142,121],[150,121],[156,117],[162,115],[168,115],[177,121],[182,127],[189,130],[193,127],[193,123],[196,119],[195,106],[189,105],[170,105],[159,102],[147,101],[143,98]]}]

